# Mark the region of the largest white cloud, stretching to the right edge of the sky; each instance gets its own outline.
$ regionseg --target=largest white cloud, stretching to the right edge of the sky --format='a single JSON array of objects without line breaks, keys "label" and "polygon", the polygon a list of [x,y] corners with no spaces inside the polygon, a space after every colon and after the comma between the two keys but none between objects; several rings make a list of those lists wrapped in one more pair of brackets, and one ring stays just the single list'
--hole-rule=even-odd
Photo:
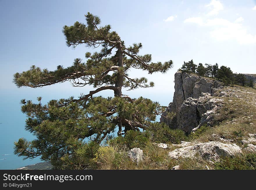
[{"label": "largest white cloud, stretching to the right edge of the sky", "polygon": [[184,20],[184,23],[189,22],[209,27],[210,36],[217,41],[235,40],[239,44],[255,44],[256,35],[248,33],[241,21],[243,21],[242,17],[239,17],[234,22],[219,18],[204,20],[202,17],[193,17]]}]

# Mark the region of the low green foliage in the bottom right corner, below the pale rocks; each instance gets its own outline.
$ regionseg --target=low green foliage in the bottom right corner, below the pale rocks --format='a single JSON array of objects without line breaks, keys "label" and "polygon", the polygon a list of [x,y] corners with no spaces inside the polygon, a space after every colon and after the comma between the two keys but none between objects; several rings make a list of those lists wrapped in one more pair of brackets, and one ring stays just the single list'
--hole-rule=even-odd
[{"label": "low green foliage in the bottom right corner, below the pale rocks", "polygon": [[255,170],[256,169],[256,154],[247,153],[237,155],[234,158],[224,157],[219,162],[214,163],[215,169],[231,169],[231,170]]}]

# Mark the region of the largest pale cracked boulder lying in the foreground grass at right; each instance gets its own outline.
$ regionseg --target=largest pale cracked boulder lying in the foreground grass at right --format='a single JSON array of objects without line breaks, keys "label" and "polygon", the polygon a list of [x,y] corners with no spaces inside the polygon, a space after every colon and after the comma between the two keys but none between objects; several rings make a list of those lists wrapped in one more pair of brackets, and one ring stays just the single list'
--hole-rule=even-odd
[{"label": "largest pale cracked boulder lying in the foreground grass at right", "polygon": [[204,160],[218,161],[222,156],[232,157],[237,153],[242,153],[241,148],[236,144],[224,144],[221,142],[205,142],[175,149],[168,153],[170,158],[194,158],[195,155],[201,156]]}]

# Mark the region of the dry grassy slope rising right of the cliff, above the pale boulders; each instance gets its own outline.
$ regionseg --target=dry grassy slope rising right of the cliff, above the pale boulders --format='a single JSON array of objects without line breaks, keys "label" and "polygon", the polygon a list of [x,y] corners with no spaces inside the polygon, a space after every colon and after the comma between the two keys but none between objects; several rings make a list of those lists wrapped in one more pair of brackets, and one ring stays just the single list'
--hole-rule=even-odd
[{"label": "dry grassy slope rising right of the cliff, above the pale boulders", "polygon": [[[213,134],[223,139],[230,139],[237,142],[248,133],[256,133],[256,106],[252,102],[241,100],[237,97],[225,97],[224,106],[216,115],[216,125],[207,128],[200,135],[196,135],[199,142],[216,140]],[[230,101],[232,100],[232,101]],[[254,123],[254,124],[251,124]],[[195,135],[194,135],[195,136]]]}]

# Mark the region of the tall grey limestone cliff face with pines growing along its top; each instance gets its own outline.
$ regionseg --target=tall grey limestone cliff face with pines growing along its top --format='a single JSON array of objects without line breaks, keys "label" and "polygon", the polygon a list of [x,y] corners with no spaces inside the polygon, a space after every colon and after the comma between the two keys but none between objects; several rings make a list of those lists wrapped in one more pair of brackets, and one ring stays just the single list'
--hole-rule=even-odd
[{"label": "tall grey limestone cliff face with pines growing along its top", "polygon": [[[160,118],[170,128],[180,128],[191,133],[203,124],[211,125],[212,113],[221,106],[222,99],[212,97],[221,83],[194,74],[175,73],[175,92],[171,102]],[[176,113],[173,119],[164,116]]]}]

